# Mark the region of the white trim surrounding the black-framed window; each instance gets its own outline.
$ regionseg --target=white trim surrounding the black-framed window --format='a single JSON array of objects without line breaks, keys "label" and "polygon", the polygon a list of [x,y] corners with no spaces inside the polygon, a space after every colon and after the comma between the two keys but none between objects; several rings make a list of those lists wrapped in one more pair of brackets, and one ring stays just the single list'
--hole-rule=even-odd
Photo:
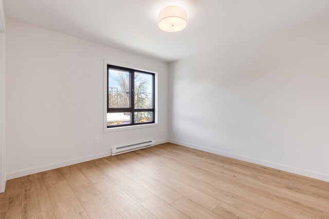
[{"label": "white trim surrounding the black-framed window", "polygon": [[[122,127],[107,128],[107,65],[119,66],[119,67],[123,67],[123,68],[130,68],[130,69],[154,73],[154,86],[155,86],[154,123],[141,124],[141,125],[135,125],[135,126],[122,126]],[[144,68],[142,68],[140,66],[136,66],[136,65],[130,65],[130,64],[120,63],[117,61],[104,59],[104,89],[103,90],[104,90],[104,101],[103,101],[103,104],[104,104],[104,117],[103,117],[104,132],[124,131],[124,130],[129,130],[129,129],[141,129],[141,128],[159,126],[159,124],[158,124],[158,73],[157,72],[152,71],[150,69],[144,69]]]}]

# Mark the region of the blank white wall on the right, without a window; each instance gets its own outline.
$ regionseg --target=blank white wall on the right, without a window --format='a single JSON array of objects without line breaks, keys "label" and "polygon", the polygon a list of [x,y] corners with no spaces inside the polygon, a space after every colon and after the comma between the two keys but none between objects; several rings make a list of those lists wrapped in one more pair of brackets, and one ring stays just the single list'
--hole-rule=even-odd
[{"label": "blank white wall on the right, without a window", "polygon": [[172,142],[329,181],[329,19],[169,71]]}]

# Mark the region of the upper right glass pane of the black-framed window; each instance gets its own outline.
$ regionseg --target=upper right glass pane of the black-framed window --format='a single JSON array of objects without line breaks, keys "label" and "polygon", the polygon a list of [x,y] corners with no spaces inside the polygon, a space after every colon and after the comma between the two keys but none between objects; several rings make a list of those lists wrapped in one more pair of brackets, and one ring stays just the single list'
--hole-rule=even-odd
[{"label": "upper right glass pane of the black-framed window", "polygon": [[135,109],[153,108],[153,75],[135,72]]}]

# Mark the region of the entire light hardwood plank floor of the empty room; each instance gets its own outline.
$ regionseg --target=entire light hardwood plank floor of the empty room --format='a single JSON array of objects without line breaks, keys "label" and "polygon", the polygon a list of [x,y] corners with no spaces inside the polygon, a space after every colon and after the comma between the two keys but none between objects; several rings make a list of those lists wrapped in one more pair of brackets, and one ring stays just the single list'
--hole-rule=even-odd
[{"label": "entire light hardwood plank floor of the empty room", "polygon": [[0,218],[329,218],[329,183],[175,144],[7,182]]}]

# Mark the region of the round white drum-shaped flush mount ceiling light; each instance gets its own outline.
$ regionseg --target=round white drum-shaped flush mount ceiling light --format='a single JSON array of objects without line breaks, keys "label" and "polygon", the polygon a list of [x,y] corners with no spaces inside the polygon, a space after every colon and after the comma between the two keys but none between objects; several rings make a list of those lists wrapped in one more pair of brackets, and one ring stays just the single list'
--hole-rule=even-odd
[{"label": "round white drum-shaped flush mount ceiling light", "polygon": [[177,32],[187,25],[187,14],[182,8],[170,6],[162,9],[158,15],[159,28],[167,32]]}]

